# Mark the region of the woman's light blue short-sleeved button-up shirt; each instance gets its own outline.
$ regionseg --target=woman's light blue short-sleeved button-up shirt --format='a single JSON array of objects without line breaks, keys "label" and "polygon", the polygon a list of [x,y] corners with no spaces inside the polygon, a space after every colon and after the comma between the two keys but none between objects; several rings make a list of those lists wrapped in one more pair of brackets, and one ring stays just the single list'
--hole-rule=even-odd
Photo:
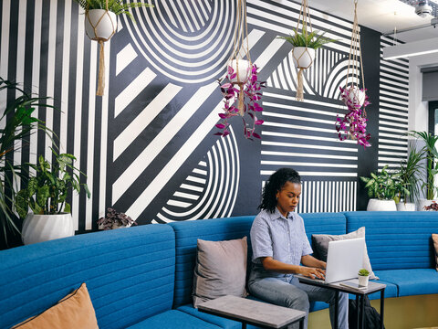
[{"label": "woman's light blue short-sleeved button-up shirt", "polygon": [[299,265],[302,256],[313,253],[304,221],[297,213],[289,212],[285,218],[276,208],[274,213],[262,210],[251,227],[253,248],[253,271],[251,279],[266,277],[285,277],[290,274],[266,271],[260,257],[272,257],[287,264]]}]

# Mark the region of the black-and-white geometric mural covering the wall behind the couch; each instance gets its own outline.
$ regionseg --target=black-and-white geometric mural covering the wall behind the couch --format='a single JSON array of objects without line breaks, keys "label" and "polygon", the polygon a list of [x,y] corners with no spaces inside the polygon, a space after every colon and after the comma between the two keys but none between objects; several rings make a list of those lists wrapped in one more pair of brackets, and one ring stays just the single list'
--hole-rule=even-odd
[{"label": "black-and-white geometric mural covering the wall behind the couch", "polygon": [[[408,63],[381,60],[388,40],[376,31],[362,27],[360,36],[366,85],[375,88],[367,108],[372,147],[363,150],[355,141],[339,142],[334,126],[346,111],[339,85],[352,23],[311,9],[313,28],[339,41],[318,49],[298,102],[291,47],[277,36],[296,27],[300,5],[248,0],[251,58],[267,81],[262,141],[245,140],[238,119],[230,135],[218,138],[217,80],[233,48],[235,2],[150,3],[155,8],[132,11],[137,24],[120,17],[118,33],[105,43],[100,98],[98,45],[85,36],[76,2],[2,1],[0,76],[52,97],[60,111],[37,115],[88,175],[91,198],[70,200],[79,233],[97,229],[96,219],[111,206],[139,224],[255,214],[264,181],[280,166],[303,176],[299,212],[355,210],[358,175],[406,154],[399,139],[407,130]],[[0,104],[14,96],[0,94]],[[388,133],[393,126],[400,129]],[[36,154],[50,156],[49,145],[37,133],[14,157],[35,163]]]}]

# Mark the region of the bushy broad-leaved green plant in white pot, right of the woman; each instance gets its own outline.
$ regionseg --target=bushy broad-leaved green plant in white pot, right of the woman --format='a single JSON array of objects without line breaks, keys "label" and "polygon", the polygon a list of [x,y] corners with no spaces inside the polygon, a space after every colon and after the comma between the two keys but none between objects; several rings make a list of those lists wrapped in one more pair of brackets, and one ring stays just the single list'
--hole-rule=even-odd
[{"label": "bushy broad-leaved green plant in white pot, right of the woman", "polygon": [[393,200],[397,188],[400,184],[399,174],[390,174],[388,164],[385,165],[378,174],[371,173],[370,177],[360,177],[368,189],[367,211],[395,211],[395,201]]}]

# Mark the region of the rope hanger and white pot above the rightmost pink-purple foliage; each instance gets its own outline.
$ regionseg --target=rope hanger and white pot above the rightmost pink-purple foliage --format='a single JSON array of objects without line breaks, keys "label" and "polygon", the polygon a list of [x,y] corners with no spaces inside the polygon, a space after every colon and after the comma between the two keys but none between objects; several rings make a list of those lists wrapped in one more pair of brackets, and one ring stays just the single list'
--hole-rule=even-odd
[{"label": "rope hanger and white pot above the rightmost pink-purple foliage", "polygon": [[[358,0],[354,1],[354,22],[351,35],[351,44],[349,46],[349,66],[347,68],[347,84],[346,89],[349,89],[351,97],[354,101],[360,103],[360,107],[363,104],[365,98],[365,76],[363,75],[362,54],[360,49],[360,29],[358,24]],[[360,63],[360,64],[359,64]],[[360,66],[360,68],[359,68]],[[360,74],[358,74],[360,72]],[[363,91],[360,90],[360,78],[362,80]],[[367,113],[365,108],[363,109],[363,117],[366,117]]]}]

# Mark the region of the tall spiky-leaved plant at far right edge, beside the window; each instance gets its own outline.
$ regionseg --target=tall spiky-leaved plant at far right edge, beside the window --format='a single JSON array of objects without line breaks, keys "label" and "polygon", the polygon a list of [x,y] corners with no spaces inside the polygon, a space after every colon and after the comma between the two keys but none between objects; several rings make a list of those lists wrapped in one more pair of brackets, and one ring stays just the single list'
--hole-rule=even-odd
[{"label": "tall spiky-leaved plant at far right edge, beside the window", "polygon": [[424,210],[424,206],[429,206],[432,201],[438,201],[434,198],[438,191],[438,186],[434,184],[434,177],[438,174],[438,153],[436,150],[438,136],[433,133],[415,131],[410,132],[410,135],[424,143],[421,152],[422,160],[425,162],[425,168],[422,171],[423,175],[420,179],[420,185],[426,198],[418,200],[418,210],[422,211]]}]

